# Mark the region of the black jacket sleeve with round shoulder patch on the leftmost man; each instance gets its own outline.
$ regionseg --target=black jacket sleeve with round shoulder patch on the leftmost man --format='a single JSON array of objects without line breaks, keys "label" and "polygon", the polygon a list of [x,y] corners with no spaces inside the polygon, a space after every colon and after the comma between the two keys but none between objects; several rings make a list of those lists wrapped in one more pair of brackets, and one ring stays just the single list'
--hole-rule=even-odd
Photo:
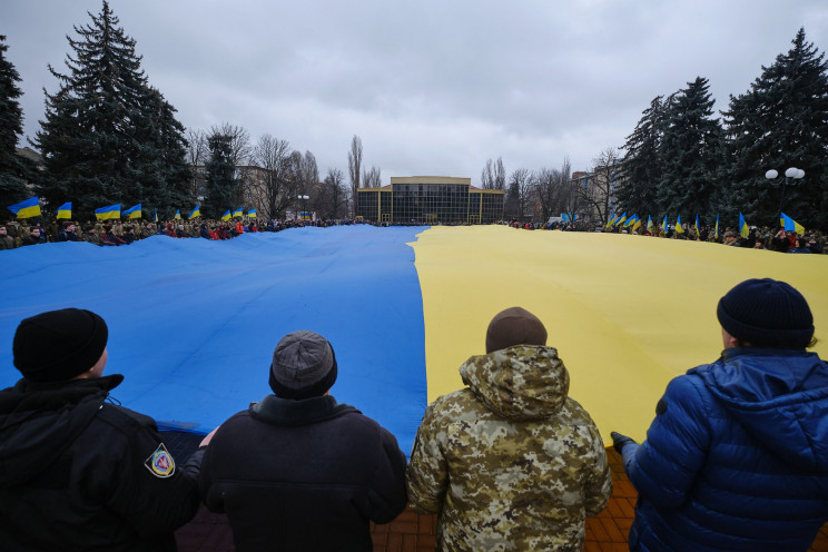
[{"label": "black jacket sleeve with round shoulder patch on the leftmost man", "polygon": [[[108,466],[111,484],[107,505],[138,534],[145,538],[166,535],[190,521],[198,510],[196,476],[204,452],[193,453],[184,465],[172,459],[175,467],[167,473],[159,467],[154,470],[152,456],[164,455],[166,450],[161,437],[154,423],[151,427],[137,421],[135,424],[137,427],[127,434],[119,462]],[[171,459],[169,452],[166,454]]]}]

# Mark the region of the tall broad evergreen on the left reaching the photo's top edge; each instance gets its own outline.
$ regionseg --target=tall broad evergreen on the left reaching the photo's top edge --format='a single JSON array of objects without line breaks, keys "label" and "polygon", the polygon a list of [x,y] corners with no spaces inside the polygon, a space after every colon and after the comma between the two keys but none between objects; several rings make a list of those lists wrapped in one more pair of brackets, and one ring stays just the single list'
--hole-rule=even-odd
[{"label": "tall broad evergreen on the left reaching the photo's top edge", "polygon": [[105,1],[90,24],[68,38],[66,75],[51,66],[58,91],[46,93],[46,118],[32,142],[43,156],[40,195],[71,200],[78,216],[105,205],[162,209],[187,186],[184,129],[175,109],[149,87],[135,40]]}]

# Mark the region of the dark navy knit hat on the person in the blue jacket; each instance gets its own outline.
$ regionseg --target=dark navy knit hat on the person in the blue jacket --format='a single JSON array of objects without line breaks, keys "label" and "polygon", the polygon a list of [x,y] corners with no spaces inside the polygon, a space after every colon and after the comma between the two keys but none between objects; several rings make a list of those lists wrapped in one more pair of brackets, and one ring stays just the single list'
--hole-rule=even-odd
[{"label": "dark navy knit hat on the person in the blue jacket", "polygon": [[748,279],[719,299],[721,327],[755,347],[805,348],[814,316],[802,294],[785,282]]}]

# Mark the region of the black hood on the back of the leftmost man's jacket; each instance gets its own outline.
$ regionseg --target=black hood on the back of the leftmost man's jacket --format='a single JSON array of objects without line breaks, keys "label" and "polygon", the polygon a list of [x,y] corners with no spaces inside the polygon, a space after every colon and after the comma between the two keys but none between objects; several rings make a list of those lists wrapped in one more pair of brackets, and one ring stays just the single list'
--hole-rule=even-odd
[{"label": "black hood on the back of the leftmost man's jacket", "polygon": [[89,425],[121,375],[0,391],[0,487],[40,474]]}]

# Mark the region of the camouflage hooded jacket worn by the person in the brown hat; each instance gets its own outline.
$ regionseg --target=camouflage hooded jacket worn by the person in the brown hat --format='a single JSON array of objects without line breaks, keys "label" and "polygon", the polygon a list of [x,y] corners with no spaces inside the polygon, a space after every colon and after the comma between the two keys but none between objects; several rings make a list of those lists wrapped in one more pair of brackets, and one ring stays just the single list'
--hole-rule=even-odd
[{"label": "camouflage hooded jacket worn by the person in the brown hat", "polygon": [[469,387],[426,408],[406,474],[412,509],[440,514],[437,550],[582,550],[612,477],[558,351],[518,345],[460,374]]}]

